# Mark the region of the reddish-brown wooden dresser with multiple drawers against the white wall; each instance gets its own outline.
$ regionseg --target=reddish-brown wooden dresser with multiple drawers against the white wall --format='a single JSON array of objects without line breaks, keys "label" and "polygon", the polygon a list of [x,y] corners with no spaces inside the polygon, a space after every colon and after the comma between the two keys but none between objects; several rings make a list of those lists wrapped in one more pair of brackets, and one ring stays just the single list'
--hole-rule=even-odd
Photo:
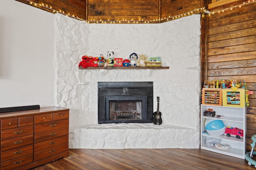
[{"label": "reddish-brown wooden dresser with multiple drawers against the white wall", "polygon": [[0,113],[0,170],[26,170],[68,157],[69,109]]}]

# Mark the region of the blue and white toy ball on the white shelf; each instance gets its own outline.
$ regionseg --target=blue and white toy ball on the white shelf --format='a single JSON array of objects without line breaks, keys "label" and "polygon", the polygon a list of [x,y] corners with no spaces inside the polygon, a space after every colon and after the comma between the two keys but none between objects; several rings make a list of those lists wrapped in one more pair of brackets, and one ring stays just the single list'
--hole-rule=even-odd
[{"label": "blue and white toy ball on the white shelf", "polygon": [[204,122],[205,130],[212,136],[220,136],[225,132],[225,125],[221,120],[206,119]]}]

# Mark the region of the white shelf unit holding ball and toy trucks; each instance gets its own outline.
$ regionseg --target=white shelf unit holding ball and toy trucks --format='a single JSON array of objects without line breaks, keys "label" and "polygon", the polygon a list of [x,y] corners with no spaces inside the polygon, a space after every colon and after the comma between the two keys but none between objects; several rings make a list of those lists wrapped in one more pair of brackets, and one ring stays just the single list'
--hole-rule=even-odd
[{"label": "white shelf unit holding ball and toy trucks", "polygon": [[[222,115],[221,117],[212,117],[211,115],[204,116],[204,111],[208,108],[212,108],[216,112],[216,115]],[[212,136],[210,134],[204,134],[206,119],[219,119],[222,120],[225,126],[238,127],[244,130],[244,137],[237,139],[236,137],[228,137],[226,135]],[[220,139],[222,145],[230,145],[229,149],[220,149],[215,146],[208,147],[206,141],[216,138]],[[224,107],[224,106],[211,106],[201,105],[201,149],[234,156],[244,159],[246,152],[246,107]]]}]

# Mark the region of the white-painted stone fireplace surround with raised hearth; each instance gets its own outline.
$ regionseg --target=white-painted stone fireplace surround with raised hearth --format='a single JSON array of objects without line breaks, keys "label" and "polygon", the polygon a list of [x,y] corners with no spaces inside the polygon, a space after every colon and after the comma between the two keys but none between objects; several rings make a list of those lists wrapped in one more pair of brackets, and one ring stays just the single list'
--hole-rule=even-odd
[{"label": "white-painted stone fireplace surround with raised hearth", "polygon": [[[70,148],[199,148],[200,15],[158,24],[93,24],[56,14],[56,104],[70,108]],[[82,55],[162,57],[170,69],[78,70]],[[162,125],[97,124],[97,82],[152,81]]]}]

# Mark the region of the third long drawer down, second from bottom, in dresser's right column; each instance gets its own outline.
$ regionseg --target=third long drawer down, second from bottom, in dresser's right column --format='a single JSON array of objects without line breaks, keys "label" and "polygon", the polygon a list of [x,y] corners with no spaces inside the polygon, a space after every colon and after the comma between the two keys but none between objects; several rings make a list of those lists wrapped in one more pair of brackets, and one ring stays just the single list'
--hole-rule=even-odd
[{"label": "third long drawer down, second from bottom, in dresser's right column", "polygon": [[57,137],[57,138],[39,142],[39,143],[35,143],[34,144],[34,152],[39,152],[44,149],[56,147],[56,146],[62,145],[64,143],[68,143],[68,135],[63,136],[63,137]]}]

